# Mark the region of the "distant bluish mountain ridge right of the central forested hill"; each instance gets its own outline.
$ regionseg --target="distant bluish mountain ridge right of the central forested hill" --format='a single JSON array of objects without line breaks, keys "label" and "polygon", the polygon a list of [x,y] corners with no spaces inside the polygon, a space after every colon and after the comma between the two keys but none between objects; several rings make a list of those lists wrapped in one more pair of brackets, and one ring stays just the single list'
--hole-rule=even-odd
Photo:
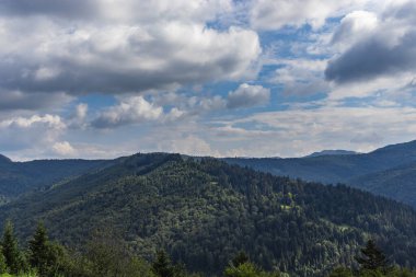
[{"label": "distant bluish mountain ridge right of the central forested hill", "polygon": [[224,161],[275,175],[325,184],[344,183],[416,208],[413,200],[416,198],[416,186],[409,175],[416,162],[416,141],[388,146],[370,153],[296,159],[227,158]]}]

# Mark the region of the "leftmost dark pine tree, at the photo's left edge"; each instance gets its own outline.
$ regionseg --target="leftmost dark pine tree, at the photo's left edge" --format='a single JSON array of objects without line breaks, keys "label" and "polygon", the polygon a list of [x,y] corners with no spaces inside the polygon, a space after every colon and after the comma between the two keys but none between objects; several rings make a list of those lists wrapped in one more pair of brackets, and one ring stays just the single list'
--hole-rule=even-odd
[{"label": "leftmost dark pine tree, at the photo's left edge", "polygon": [[19,251],[18,239],[13,232],[13,224],[11,221],[7,221],[3,231],[3,240],[1,242],[2,254],[9,272],[18,274],[22,270],[22,255]]}]

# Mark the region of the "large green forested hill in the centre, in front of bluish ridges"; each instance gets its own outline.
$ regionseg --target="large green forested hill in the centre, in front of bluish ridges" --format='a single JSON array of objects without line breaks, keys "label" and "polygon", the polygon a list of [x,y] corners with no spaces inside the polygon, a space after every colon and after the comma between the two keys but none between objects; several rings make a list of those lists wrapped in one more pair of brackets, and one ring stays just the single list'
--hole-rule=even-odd
[{"label": "large green forested hill in the centre, in front of bluish ridges", "polygon": [[216,159],[135,154],[0,207],[21,238],[43,220],[83,245],[113,229],[137,254],[165,249],[188,269],[219,274],[240,250],[266,269],[322,276],[374,238],[392,261],[416,264],[416,211],[346,186],[278,177]]}]

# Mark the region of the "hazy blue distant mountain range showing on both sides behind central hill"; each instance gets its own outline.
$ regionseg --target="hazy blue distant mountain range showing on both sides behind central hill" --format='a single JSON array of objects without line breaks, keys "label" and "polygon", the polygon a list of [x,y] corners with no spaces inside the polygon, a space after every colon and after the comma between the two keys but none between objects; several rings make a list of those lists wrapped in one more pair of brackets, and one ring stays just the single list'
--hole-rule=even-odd
[{"label": "hazy blue distant mountain range showing on both sides behind central hill", "polygon": [[[274,175],[324,184],[343,183],[416,208],[416,141],[388,146],[370,153],[323,150],[304,158],[222,160]],[[117,159],[12,162],[0,155],[0,204],[30,191],[44,189],[59,181],[112,165],[115,161]]]}]

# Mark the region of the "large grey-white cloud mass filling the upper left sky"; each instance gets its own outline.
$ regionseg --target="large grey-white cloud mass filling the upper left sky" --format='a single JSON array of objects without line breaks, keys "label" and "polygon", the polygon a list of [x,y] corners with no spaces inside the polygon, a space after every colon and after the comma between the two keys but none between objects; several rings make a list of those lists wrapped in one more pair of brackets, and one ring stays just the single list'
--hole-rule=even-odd
[{"label": "large grey-white cloud mass filling the upper left sky", "polygon": [[[208,26],[232,1],[58,2],[0,3],[10,11],[0,13],[3,91],[126,93],[257,71],[262,49],[255,32]],[[81,8],[94,16],[79,19]]]}]

